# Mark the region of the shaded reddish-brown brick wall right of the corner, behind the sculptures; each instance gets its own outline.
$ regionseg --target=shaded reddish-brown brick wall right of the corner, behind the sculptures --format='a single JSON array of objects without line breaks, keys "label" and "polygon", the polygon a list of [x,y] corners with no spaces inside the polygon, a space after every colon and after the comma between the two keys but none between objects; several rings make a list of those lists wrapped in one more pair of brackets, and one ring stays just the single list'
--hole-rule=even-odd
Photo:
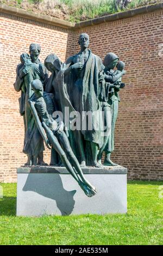
[{"label": "shaded reddish-brown brick wall right of the corner, behind the sculptures", "polygon": [[[126,63],[112,160],[129,179],[163,179],[163,11],[102,23],[76,32],[90,36],[93,53],[116,53]],[[162,55],[162,57],[161,57]]]}]

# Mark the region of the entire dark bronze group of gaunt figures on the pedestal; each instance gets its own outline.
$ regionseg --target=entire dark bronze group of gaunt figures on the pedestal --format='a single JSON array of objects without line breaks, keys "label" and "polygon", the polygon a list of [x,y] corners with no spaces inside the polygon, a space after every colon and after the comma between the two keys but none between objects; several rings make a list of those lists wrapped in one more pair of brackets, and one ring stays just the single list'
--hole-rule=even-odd
[{"label": "entire dark bronze group of gaunt figures on the pedestal", "polygon": [[14,88],[21,91],[26,165],[46,165],[44,141],[52,148],[50,164],[63,164],[91,197],[97,191],[85,179],[82,167],[116,165],[110,154],[114,150],[118,92],[125,86],[122,75],[126,71],[125,64],[114,53],[106,54],[102,63],[89,49],[89,35],[80,34],[79,45],[80,52],[65,63],[49,54],[42,64],[40,45],[31,44],[29,54],[21,54]]}]

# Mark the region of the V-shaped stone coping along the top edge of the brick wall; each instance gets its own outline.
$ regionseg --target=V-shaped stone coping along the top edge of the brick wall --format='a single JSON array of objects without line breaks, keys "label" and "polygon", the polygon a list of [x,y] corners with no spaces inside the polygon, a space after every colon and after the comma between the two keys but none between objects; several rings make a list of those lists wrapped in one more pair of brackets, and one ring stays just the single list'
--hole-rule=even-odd
[{"label": "V-shaped stone coping along the top edge of the brick wall", "polygon": [[122,11],[121,13],[110,14],[110,15],[98,17],[98,18],[92,19],[92,20],[81,21],[78,23],[72,23],[72,22],[60,20],[60,19],[57,19],[57,18],[54,18],[51,16],[30,13],[29,11],[26,11],[26,10],[23,10],[20,8],[10,7],[6,4],[0,4],[0,12],[1,13],[8,13],[8,14],[12,14],[15,16],[19,16],[19,17],[24,17],[24,18],[27,18],[30,20],[40,21],[40,22],[47,23],[49,25],[54,25],[54,26],[58,26],[58,27],[62,27],[62,28],[68,28],[68,29],[72,29],[72,30],[77,30],[77,29],[84,28],[87,26],[98,25],[98,24],[104,23],[104,22],[126,19],[129,17],[133,17],[135,15],[138,15],[138,14],[146,14],[146,13],[150,13],[152,11],[160,10],[160,9],[163,9],[163,2],[146,5],[143,7],[139,7],[139,8],[131,9],[131,10],[127,10],[127,11]]}]

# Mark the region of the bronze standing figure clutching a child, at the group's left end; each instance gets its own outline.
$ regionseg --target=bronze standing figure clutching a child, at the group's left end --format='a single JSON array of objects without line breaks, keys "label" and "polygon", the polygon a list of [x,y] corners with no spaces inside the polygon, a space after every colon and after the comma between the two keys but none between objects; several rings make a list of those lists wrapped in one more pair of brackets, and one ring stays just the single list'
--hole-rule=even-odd
[{"label": "bronze standing figure clutching a child, at the group's left end", "polygon": [[27,165],[45,164],[43,162],[43,139],[36,127],[34,117],[29,107],[28,99],[33,94],[31,83],[39,79],[42,83],[47,81],[47,70],[39,60],[41,48],[38,44],[31,44],[29,54],[21,54],[21,64],[17,66],[17,77],[14,88],[21,91],[20,113],[24,119],[24,147],[23,153],[27,154]]}]

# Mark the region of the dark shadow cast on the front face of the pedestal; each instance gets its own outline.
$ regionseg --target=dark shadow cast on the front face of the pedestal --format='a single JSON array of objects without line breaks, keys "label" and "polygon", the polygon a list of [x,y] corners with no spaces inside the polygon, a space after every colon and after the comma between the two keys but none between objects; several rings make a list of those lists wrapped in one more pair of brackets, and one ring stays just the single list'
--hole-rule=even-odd
[{"label": "dark shadow cast on the front face of the pedestal", "polygon": [[[54,188],[54,189],[53,189]],[[43,197],[55,200],[61,215],[70,215],[73,211],[75,200],[74,194],[76,190],[67,191],[63,187],[59,174],[28,174],[26,184],[23,191],[33,191]],[[37,202],[36,202],[37,203]]]}]

